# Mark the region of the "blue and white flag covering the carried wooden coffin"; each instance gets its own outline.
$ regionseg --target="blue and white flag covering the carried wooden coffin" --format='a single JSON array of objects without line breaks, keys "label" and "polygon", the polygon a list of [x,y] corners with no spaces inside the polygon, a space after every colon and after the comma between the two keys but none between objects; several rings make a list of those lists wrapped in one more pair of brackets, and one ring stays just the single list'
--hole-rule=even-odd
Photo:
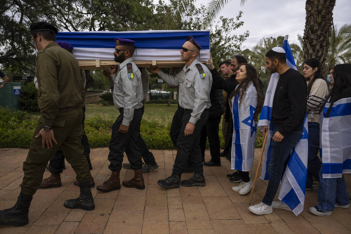
[{"label": "blue and white flag covering the carried wooden coffin", "polygon": [[132,32],[59,32],[56,39],[71,44],[76,59],[113,60],[116,46],[114,38],[134,40],[137,53],[134,60],[180,60],[180,49],[187,37],[192,35],[203,50],[201,60],[210,59],[210,30],[153,30]]}]

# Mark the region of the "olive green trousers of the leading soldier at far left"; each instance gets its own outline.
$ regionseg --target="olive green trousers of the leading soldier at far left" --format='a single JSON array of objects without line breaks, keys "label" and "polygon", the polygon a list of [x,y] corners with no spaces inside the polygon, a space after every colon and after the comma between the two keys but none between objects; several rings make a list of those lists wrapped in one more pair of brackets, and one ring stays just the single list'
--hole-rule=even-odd
[{"label": "olive green trousers of the leading soldier at far left", "polygon": [[53,147],[48,149],[46,145],[45,148],[42,148],[41,137],[35,138],[43,127],[42,116],[40,117],[34,130],[26,161],[23,163],[24,177],[20,185],[22,193],[35,194],[43,179],[48,161],[59,147],[61,147],[66,160],[77,174],[78,182],[90,181],[90,170],[84,155],[84,148],[81,145],[83,135],[82,118],[82,109],[79,107],[73,111],[59,112],[52,126],[57,144],[53,143]]}]

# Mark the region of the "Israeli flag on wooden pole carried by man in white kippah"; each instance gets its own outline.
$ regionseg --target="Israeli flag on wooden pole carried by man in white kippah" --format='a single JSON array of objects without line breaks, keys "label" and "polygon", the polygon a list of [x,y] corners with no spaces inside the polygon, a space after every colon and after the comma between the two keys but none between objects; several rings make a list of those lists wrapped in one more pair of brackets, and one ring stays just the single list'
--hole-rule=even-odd
[{"label": "Israeli flag on wooden pole carried by man in white kippah", "polygon": [[[287,43],[287,39],[288,35],[285,36],[283,44],[283,49],[286,53],[286,62],[290,68],[297,70],[290,46]],[[272,104],[278,79],[278,73],[272,74],[258,122],[259,127],[265,125],[269,126],[269,135],[267,136],[267,142],[264,148],[262,174],[260,177],[260,179],[263,180],[269,180],[268,165],[272,155],[271,137],[273,136],[273,123],[271,123]],[[291,156],[287,163],[278,194],[278,198],[288,205],[295,215],[302,212],[305,202],[308,152],[308,124],[306,117],[307,116],[305,116],[301,139],[291,150]]]}]

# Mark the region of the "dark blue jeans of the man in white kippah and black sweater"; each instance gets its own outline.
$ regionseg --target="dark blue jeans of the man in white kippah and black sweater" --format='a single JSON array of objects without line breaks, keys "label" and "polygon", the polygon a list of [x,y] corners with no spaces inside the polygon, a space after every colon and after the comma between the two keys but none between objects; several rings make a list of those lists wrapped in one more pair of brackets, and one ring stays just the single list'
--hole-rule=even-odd
[{"label": "dark blue jeans of the man in white kippah and black sweater", "polygon": [[[273,135],[279,131],[274,128]],[[263,203],[270,206],[274,196],[279,188],[280,180],[282,179],[283,172],[285,171],[287,161],[290,157],[291,149],[300,140],[302,131],[290,132],[284,136],[280,142],[272,141],[272,156],[268,165],[269,182],[266,190],[266,195],[263,198]]]}]

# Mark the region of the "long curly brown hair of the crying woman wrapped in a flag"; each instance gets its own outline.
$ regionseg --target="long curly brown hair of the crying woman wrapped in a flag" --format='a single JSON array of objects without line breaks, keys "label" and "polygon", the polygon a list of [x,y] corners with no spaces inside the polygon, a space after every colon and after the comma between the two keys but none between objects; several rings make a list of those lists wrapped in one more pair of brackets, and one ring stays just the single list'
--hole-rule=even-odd
[{"label": "long curly brown hair of the crying woman wrapped in a flag", "polygon": [[256,107],[256,111],[261,112],[262,106],[263,106],[263,94],[261,91],[261,88],[259,86],[258,83],[258,76],[257,76],[257,71],[256,68],[254,66],[252,66],[250,63],[244,63],[243,65],[245,65],[246,68],[246,78],[245,80],[243,80],[243,82],[239,83],[238,87],[234,90],[234,92],[232,92],[229,96],[229,99],[232,99],[233,97],[236,97],[237,94],[240,92],[240,98],[239,100],[239,106],[241,104],[241,100],[243,100],[245,94],[246,94],[246,90],[247,88],[249,88],[250,85],[250,81],[252,81],[253,85],[256,88],[256,92],[257,92],[257,107]]}]

